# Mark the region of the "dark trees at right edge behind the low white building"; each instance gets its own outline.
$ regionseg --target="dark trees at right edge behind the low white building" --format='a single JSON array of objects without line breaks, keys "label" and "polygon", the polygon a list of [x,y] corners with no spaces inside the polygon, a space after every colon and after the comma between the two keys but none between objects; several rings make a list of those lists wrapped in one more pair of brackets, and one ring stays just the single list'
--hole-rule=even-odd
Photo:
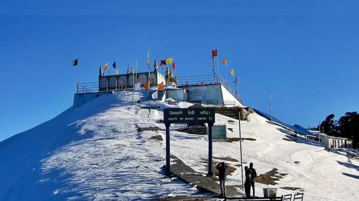
[{"label": "dark trees at right edge behind the low white building", "polygon": [[[334,114],[328,115],[320,125],[321,133],[345,137],[353,140],[353,148],[359,148],[359,114],[358,112],[347,112],[338,120],[334,120]],[[317,128],[312,128],[319,130]]]}]

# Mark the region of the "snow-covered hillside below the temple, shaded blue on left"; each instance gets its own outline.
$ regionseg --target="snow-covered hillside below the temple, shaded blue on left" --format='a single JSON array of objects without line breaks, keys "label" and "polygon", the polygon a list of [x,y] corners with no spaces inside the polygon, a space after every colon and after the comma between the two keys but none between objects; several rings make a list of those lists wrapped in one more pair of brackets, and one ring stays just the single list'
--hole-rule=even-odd
[{"label": "snow-covered hillside below the temple, shaded blue on left", "polygon": [[[138,96],[138,95],[137,95]],[[136,97],[139,99],[139,97]],[[138,132],[159,127],[162,112],[145,101],[132,104],[132,92],[106,93],[89,103],[33,129],[0,142],[0,200],[153,200],[159,197],[200,196],[196,187],[163,177],[165,146],[150,139],[164,131]],[[177,106],[188,107],[180,102]],[[146,107],[147,106],[147,107]],[[238,120],[216,114],[216,123],[227,124],[229,137],[239,137]],[[171,129],[183,125],[171,125]],[[333,152],[322,144],[298,137],[250,115],[241,121],[244,165],[250,162],[258,174],[273,168],[281,174],[274,187],[278,194],[304,192],[309,200],[359,200],[359,162],[345,151]],[[251,139],[251,140],[250,140]],[[255,139],[255,140],[253,140]],[[171,132],[171,153],[205,174],[208,157],[206,136]],[[213,155],[240,159],[239,142],[215,141]],[[226,161],[233,167],[235,161]],[[227,184],[241,184],[240,168]],[[256,185],[256,195],[262,187]],[[285,188],[285,189],[283,189]]]}]

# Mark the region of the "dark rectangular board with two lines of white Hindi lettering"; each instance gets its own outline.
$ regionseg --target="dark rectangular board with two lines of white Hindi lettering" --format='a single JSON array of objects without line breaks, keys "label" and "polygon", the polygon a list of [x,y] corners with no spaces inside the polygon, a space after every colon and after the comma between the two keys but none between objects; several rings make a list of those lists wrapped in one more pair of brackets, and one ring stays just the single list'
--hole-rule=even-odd
[{"label": "dark rectangular board with two lines of white Hindi lettering", "polygon": [[214,108],[165,108],[164,123],[215,123]]}]

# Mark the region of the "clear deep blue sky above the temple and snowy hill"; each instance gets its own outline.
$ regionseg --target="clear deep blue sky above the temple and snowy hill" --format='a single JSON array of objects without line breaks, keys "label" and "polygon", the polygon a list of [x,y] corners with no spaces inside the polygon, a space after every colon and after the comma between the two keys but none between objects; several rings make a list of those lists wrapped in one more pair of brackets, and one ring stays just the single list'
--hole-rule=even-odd
[{"label": "clear deep blue sky above the temple and snowy hill", "polygon": [[174,56],[183,76],[210,74],[218,49],[241,77],[244,104],[269,113],[271,87],[273,116],[288,124],[359,110],[358,3],[99,2],[1,2],[0,140],[72,105],[73,59],[80,82],[97,82],[99,65],[124,72],[129,54],[146,70],[147,50],[151,64]]}]

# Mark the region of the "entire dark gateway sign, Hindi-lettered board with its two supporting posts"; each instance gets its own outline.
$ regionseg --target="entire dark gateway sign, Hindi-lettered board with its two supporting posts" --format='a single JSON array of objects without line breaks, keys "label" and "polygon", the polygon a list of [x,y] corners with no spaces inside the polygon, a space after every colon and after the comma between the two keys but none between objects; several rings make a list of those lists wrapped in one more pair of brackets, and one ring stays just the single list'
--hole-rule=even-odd
[{"label": "entire dark gateway sign, Hindi-lettered board with its two supporting posts", "polygon": [[213,108],[165,108],[163,121],[166,126],[166,175],[171,175],[170,164],[170,130],[171,123],[190,123],[201,125],[208,123],[208,173],[212,176],[212,126],[215,123],[215,109]]}]

